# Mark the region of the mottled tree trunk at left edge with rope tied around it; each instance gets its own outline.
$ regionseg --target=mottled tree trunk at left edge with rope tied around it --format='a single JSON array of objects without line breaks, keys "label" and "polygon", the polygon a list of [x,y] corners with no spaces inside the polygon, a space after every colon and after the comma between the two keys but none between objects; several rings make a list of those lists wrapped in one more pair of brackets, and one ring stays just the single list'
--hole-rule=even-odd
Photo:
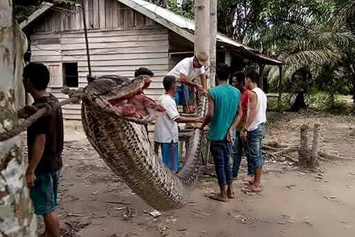
[{"label": "mottled tree trunk at left edge with rope tied around it", "polygon": [[[0,133],[17,126],[14,66],[19,47],[12,1],[0,1]],[[23,55],[22,55],[23,56]],[[21,57],[22,57],[21,56]],[[19,136],[0,142],[0,236],[36,236],[37,222],[25,185]]]}]

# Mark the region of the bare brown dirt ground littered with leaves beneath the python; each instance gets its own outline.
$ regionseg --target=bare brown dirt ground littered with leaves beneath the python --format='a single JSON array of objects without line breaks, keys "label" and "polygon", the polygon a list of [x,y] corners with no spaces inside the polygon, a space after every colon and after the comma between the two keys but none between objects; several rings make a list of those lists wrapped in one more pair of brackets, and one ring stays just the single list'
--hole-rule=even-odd
[{"label": "bare brown dirt ground littered with leaves beneath the python", "polygon": [[[297,144],[299,127],[322,124],[321,149],[355,158],[355,118],[315,113],[273,115],[266,139]],[[310,139],[311,140],[311,139]],[[63,236],[355,236],[355,162],[321,161],[322,174],[267,161],[263,193],[245,194],[235,181],[236,199],[207,199],[214,177],[201,176],[183,209],[153,211],[101,161],[78,124],[65,131],[58,214]],[[116,202],[116,203],[110,203]]]}]

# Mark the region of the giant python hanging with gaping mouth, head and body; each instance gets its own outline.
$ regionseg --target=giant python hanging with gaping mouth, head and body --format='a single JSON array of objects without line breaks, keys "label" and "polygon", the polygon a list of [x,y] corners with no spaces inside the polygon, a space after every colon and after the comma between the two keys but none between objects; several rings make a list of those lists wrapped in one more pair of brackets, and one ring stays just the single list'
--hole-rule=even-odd
[{"label": "giant python hanging with gaping mouth, head and body", "polygon": [[[143,95],[151,79],[139,76],[99,76],[88,80],[82,103],[83,129],[92,147],[130,189],[155,209],[179,209],[198,179],[202,130],[193,131],[187,161],[173,174],[155,155],[145,123],[164,113]],[[207,98],[198,98],[198,115],[205,115]]]}]

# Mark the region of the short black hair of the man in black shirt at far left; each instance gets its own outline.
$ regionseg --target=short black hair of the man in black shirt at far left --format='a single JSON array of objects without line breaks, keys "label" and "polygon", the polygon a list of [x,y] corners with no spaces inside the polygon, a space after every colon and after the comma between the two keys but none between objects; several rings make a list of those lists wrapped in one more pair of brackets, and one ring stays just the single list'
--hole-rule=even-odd
[{"label": "short black hair of the man in black shirt at far left", "polygon": [[42,63],[28,63],[24,67],[23,76],[37,90],[46,90],[49,83],[49,70]]}]

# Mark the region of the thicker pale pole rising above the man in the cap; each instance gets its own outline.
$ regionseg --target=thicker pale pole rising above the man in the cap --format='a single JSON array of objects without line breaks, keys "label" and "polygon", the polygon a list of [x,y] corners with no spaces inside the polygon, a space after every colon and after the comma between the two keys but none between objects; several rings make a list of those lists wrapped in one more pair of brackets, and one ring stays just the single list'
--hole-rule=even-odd
[{"label": "thicker pale pole rising above the man in the cap", "polygon": [[195,53],[209,54],[209,33],[209,0],[195,0]]}]

